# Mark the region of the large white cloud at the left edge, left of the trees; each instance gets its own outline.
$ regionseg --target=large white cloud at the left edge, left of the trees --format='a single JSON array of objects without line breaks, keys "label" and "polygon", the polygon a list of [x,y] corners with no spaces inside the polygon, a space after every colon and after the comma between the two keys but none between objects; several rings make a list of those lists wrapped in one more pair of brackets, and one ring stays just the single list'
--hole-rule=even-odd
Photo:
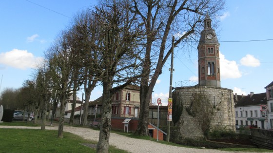
[{"label": "large white cloud at the left edge, left of the trees", "polygon": [[13,49],[6,53],[0,53],[0,63],[14,68],[35,68],[42,61],[42,57],[34,57],[27,50]]}]

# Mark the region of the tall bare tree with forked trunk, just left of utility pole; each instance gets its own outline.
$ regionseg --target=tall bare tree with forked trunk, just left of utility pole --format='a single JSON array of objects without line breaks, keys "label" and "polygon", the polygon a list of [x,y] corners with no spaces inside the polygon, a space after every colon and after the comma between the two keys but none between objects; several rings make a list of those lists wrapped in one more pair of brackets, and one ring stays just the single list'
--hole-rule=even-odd
[{"label": "tall bare tree with forked trunk, just left of utility pole", "polygon": [[171,54],[171,35],[176,34],[175,46],[182,40],[195,38],[205,15],[218,13],[224,7],[224,0],[132,0],[131,6],[146,28],[140,113],[135,134],[148,135],[149,102],[156,80]]}]

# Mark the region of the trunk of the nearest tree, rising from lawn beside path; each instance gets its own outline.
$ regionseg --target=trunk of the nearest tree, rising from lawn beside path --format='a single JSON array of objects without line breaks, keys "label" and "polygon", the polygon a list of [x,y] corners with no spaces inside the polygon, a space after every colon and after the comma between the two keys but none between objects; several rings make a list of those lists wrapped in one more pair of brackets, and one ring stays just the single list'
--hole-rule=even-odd
[{"label": "trunk of the nearest tree, rising from lawn beside path", "polygon": [[103,82],[102,116],[100,121],[97,153],[108,153],[111,129],[112,101],[110,95],[111,83]]}]

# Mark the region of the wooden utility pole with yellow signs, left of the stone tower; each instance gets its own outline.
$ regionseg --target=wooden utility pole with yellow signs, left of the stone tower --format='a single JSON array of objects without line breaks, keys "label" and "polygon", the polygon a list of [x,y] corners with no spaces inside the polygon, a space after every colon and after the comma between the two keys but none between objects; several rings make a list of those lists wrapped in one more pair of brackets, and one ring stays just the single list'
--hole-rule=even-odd
[{"label": "wooden utility pole with yellow signs, left of the stone tower", "polygon": [[[173,70],[174,70],[174,48],[175,48],[175,37],[173,36],[172,39],[172,58],[171,58],[171,74],[170,74],[170,90],[169,90],[169,99],[172,98],[172,89],[173,89]],[[168,100],[169,101],[169,100]],[[172,110],[171,110],[171,114],[169,113],[169,106],[170,104],[168,103],[168,120],[167,120],[167,137],[166,140],[167,142],[170,142],[170,127],[171,127],[171,120],[172,117],[170,119],[169,115],[172,115]],[[171,104],[171,109],[173,104]]]}]

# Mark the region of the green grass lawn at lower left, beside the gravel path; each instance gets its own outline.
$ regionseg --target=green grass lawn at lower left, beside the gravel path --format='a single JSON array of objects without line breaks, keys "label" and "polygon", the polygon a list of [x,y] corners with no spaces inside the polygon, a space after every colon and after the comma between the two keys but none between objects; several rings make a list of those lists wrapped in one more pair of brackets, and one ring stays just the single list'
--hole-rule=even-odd
[{"label": "green grass lawn at lower left, beside the gravel path", "polygon": [[[32,123],[11,122],[1,123],[9,126],[31,126]],[[82,144],[97,142],[88,141],[78,135],[64,132],[64,137],[59,138],[56,130],[36,129],[1,129],[0,128],[0,153],[96,153],[96,148],[89,148]],[[127,153],[115,147],[109,147],[109,153]]]}]

